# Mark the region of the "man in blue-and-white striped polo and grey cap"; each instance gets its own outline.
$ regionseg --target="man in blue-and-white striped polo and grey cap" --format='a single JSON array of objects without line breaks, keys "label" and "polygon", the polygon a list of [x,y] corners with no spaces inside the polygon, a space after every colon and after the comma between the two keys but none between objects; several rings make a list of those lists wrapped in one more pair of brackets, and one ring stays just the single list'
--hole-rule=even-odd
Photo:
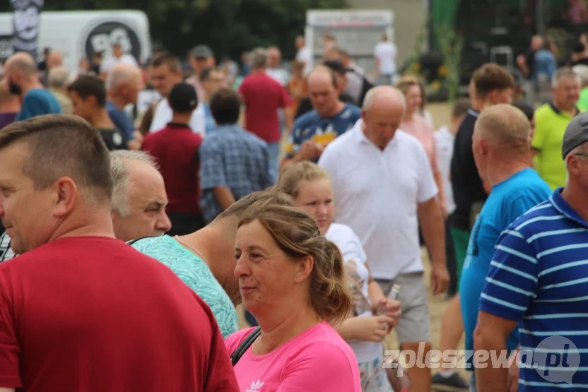
[{"label": "man in blue-and-white striped polo and grey cap", "polygon": [[[562,153],[565,188],[500,235],[474,333],[476,350],[505,350],[519,323],[522,392],[588,389],[587,113],[568,124]],[[486,362],[478,391],[517,391],[516,376]]]}]

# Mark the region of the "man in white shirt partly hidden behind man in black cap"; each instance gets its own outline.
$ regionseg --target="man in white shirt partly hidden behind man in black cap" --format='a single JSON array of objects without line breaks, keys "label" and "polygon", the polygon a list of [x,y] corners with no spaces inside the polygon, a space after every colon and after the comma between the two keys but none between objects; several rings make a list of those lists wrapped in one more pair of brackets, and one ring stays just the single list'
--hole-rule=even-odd
[{"label": "man in white shirt partly hidden behind man in black cap", "polygon": [[[157,132],[164,129],[172,121],[172,109],[167,103],[167,95],[177,83],[182,83],[182,65],[177,57],[169,53],[161,53],[151,61],[151,79],[155,90],[160,93],[163,100],[160,100],[155,106],[153,120],[149,127],[149,132]],[[201,100],[201,97],[198,97]],[[204,105],[198,105],[192,117],[190,118],[190,128],[192,131],[200,133],[204,137],[206,131],[206,113]]]}]

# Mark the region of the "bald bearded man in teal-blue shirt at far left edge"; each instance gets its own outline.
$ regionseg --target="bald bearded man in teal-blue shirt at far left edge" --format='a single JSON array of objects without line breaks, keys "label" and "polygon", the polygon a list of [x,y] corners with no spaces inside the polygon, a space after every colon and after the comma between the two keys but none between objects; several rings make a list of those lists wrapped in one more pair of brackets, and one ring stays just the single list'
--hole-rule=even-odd
[{"label": "bald bearded man in teal-blue shirt at far left edge", "polygon": [[30,54],[18,52],[9,57],[4,66],[4,78],[11,93],[23,100],[16,121],[42,114],[61,114],[59,101],[39,81],[37,64]]}]

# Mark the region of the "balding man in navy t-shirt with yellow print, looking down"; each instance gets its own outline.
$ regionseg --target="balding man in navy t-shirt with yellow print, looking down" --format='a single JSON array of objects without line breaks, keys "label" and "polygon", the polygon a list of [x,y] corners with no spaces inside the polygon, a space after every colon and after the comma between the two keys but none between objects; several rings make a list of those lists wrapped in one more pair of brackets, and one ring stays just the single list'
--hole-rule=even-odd
[{"label": "balding man in navy t-shirt with yellow print, looking down", "polygon": [[359,107],[339,99],[341,90],[331,69],[317,66],[308,74],[307,85],[314,110],[296,119],[282,168],[303,160],[317,162],[327,144],[361,118]]}]

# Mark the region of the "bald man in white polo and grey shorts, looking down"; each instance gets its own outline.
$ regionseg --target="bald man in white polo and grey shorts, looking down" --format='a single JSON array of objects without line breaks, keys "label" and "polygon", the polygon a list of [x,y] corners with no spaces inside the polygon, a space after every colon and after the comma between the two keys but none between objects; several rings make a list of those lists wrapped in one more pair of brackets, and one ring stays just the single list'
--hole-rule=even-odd
[{"label": "bald man in white polo and grey shorts, looking down", "polygon": [[[445,291],[449,275],[438,189],[427,154],[416,138],[396,131],[405,108],[396,88],[372,88],[362,119],[327,145],[319,166],[331,177],[336,221],[360,237],[384,294],[394,283],[401,285],[402,316],[396,333],[402,350],[418,353],[419,343],[424,343],[422,359],[417,359],[423,362],[431,344],[419,221],[433,259],[430,285],[435,295]],[[407,371],[411,391],[430,391],[428,367],[417,362]]]}]

